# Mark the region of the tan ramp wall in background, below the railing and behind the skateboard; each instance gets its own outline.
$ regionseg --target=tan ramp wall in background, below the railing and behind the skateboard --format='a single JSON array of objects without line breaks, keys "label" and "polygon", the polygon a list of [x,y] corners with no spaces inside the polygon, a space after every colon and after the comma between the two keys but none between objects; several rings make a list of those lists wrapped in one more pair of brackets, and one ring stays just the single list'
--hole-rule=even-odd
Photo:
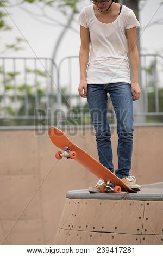
[{"label": "tan ramp wall in background, below the railing and behind the skateboard", "polygon": [[[93,129],[64,132],[98,160]],[[116,127],[111,127],[111,133],[116,169]],[[163,181],[162,133],[163,126],[134,127],[130,175],[134,175],[140,185]],[[52,245],[66,192],[86,190],[98,179],[76,161],[55,159],[58,148],[50,141],[47,130],[41,133],[1,130],[0,140],[0,242],[4,245]],[[159,194],[158,191],[155,190],[155,194]]]}]

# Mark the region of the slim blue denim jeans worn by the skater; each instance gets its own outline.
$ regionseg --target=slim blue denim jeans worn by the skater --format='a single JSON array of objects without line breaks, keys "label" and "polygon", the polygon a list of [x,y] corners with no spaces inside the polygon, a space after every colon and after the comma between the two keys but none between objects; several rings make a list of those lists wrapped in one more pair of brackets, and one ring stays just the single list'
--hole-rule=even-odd
[{"label": "slim blue denim jeans worn by the skater", "polygon": [[115,171],[115,175],[118,178],[123,178],[129,176],[133,151],[134,120],[131,84],[122,82],[87,85],[87,102],[96,131],[99,162],[113,173],[111,132],[107,118],[107,93],[110,94],[117,119],[118,169]]}]

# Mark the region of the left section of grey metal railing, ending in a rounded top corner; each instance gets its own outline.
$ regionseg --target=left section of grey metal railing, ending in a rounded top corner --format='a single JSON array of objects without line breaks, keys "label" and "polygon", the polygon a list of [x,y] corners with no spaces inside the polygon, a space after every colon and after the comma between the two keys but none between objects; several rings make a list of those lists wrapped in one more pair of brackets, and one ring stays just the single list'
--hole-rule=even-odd
[{"label": "left section of grey metal railing, ending in a rounded top corner", "polygon": [[[53,72],[50,72],[52,66]],[[57,66],[52,59],[1,57],[0,75],[1,126],[16,125],[17,120],[28,125],[29,120],[39,118],[39,109],[48,113],[48,109],[59,105],[53,78],[56,81]]]}]

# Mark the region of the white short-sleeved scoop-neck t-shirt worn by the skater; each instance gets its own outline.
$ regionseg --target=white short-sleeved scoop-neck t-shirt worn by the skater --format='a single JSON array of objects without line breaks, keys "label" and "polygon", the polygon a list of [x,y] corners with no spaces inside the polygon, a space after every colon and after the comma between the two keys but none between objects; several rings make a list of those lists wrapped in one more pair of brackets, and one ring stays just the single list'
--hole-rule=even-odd
[{"label": "white short-sleeved scoop-neck t-shirt worn by the skater", "polygon": [[95,16],[91,4],[80,11],[78,22],[90,32],[87,84],[131,83],[126,29],[140,26],[133,10],[122,5],[114,22],[103,23]]}]

